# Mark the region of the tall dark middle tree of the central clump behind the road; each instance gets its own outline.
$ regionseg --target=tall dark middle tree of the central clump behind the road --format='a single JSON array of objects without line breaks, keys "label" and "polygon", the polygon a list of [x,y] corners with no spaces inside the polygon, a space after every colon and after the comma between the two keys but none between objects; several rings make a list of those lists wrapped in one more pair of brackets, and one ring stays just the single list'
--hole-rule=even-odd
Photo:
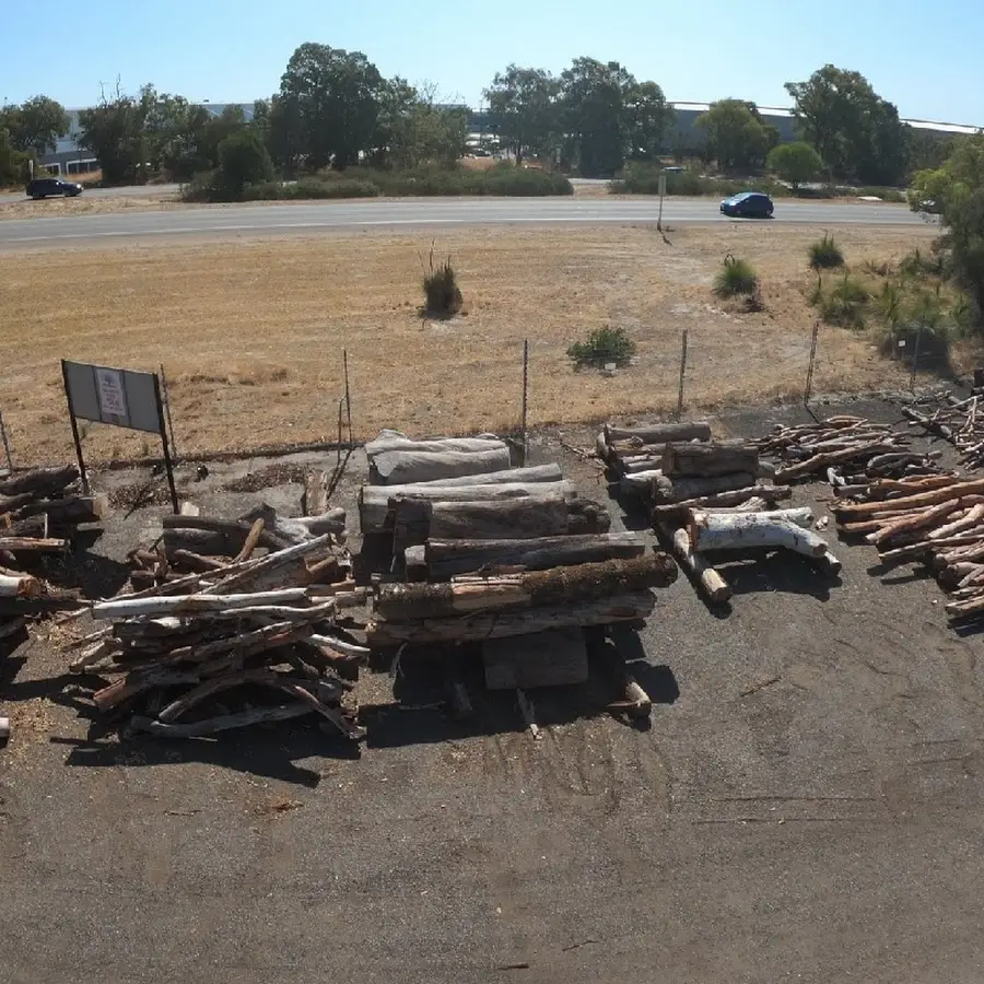
[{"label": "tall dark middle tree of the central clump behind the road", "polygon": [[561,84],[569,156],[585,177],[610,177],[629,151],[624,96],[635,79],[617,61],[576,58]]}]

